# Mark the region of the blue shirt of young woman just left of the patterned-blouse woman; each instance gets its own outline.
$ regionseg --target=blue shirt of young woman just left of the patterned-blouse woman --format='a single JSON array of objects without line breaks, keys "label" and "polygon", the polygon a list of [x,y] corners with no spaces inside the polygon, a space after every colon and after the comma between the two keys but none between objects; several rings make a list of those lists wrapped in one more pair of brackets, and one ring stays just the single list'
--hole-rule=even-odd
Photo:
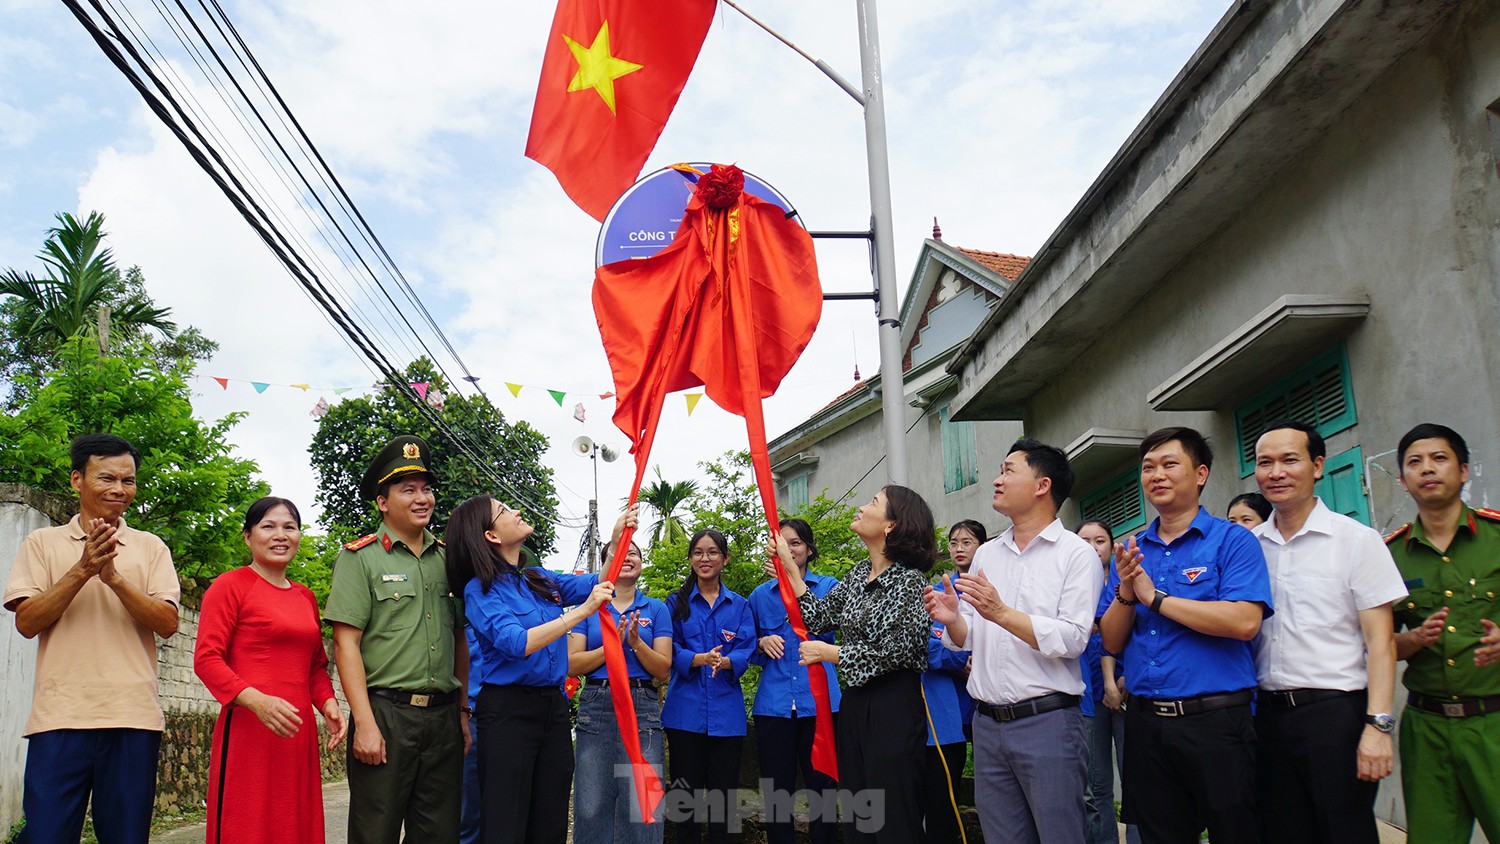
[{"label": "blue shirt of young woman just left of the patterned-blouse woman", "polygon": [[[813,595],[822,598],[838,585],[837,577],[807,573],[802,579]],[[765,636],[780,636],[786,645],[780,660],[771,660],[760,648],[750,652],[752,666],[764,666],[760,687],[754,693],[754,715],[774,718],[812,718],[818,714],[813,702],[813,688],[807,666],[800,666],[798,639],[792,633],[792,622],[782,604],[782,592],[777,591],[776,580],[766,580],[750,592],[750,613],[754,615],[756,642]],[[832,645],[834,631],[814,636],[819,642]],[[824,664],[828,675],[830,709],[838,712],[838,672],[834,666]]]}]

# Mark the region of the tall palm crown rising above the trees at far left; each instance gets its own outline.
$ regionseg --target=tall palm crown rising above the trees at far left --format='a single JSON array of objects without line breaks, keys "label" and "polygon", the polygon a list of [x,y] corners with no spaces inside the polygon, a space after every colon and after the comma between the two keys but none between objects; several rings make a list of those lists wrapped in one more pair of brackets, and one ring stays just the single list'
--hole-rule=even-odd
[{"label": "tall palm crown rising above the trees at far left", "polygon": [[48,229],[38,255],[46,277],[6,270],[0,274],[0,295],[14,315],[15,340],[26,345],[56,346],[78,334],[94,331],[99,306],[110,306],[110,324],[122,334],[156,328],[166,336],[177,331],[168,319],[171,310],[150,300],[124,298],[114,255],[100,247],[105,238],[104,214],[92,211],[82,223],[72,214],[57,214],[58,225]]}]

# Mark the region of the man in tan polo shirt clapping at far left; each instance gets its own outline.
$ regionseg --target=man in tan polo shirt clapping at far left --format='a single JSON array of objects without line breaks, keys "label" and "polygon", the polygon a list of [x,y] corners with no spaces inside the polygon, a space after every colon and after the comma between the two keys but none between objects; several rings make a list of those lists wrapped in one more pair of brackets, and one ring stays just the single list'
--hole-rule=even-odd
[{"label": "man in tan polo shirt clapping at far left", "polygon": [[162,708],[156,636],[177,633],[172,555],[124,523],[141,453],[111,433],[72,444],[78,516],[33,531],[15,558],[4,609],[38,639],[26,724],[27,844],[75,844],[93,796],[94,834],[146,844],[156,799]]}]

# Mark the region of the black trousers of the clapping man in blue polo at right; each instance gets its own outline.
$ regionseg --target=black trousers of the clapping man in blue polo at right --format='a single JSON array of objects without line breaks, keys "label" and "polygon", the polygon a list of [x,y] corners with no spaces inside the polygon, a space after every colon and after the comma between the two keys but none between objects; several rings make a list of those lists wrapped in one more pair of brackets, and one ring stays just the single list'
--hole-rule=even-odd
[{"label": "black trousers of the clapping man in blue polo at right", "polygon": [[1260,844],[1250,705],[1162,718],[1125,712],[1126,823],[1144,844]]}]

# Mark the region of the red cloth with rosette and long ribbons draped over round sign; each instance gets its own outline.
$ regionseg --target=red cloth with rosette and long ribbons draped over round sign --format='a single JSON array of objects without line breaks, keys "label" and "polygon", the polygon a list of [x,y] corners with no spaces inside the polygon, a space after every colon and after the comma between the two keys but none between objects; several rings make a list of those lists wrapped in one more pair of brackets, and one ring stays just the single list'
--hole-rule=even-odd
[{"label": "red cloth with rosette and long ribbons draped over round sign", "polygon": [[[615,424],[636,456],[632,504],[645,478],[666,394],[704,387],[716,405],[746,418],[760,504],[771,531],[777,529],[760,400],[776,393],[807,348],[822,306],[812,237],[780,207],[746,193],[744,172],[734,165],[712,165],[700,174],[670,246],[651,258],[597,270],[594,316],[615,376]],[[630,532],[627,528],[616,546],[606,579],[620,571]],[[772,561],[792,630],[806,640],[802,613],[780,561],[774,555]],[[609,631],[614,625],[600,627]],[[628,708],[627,687],[614,681],[610,648],[620,652],[618,634],[614,645],[604,639],[604,664],[612,694],[624,693]],[[624,678],[624,655],[618,661]],[[807,670],[818,711],[813,766],[837,780],[826,669],[813,664]],[[620,697],[615,712],[624,729]],[[622,738],[628,747],[630,736]]]}]

